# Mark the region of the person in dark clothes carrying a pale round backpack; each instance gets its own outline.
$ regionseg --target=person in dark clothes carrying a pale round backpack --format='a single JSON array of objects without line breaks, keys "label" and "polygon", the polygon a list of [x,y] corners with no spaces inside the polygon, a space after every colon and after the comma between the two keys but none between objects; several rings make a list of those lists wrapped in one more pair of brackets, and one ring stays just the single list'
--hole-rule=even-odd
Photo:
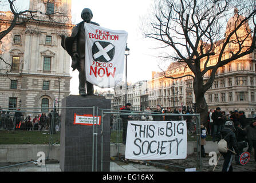
[{"label": "person in dark clothes carrying a pale round backpack", "polygon": [[[233,172],[232,161],[233,154],[240,155],[239,149],[237,148],[237,142],[235,138],[235,127],[233,121],[226,121],[224,128],[220,130],[220,133],[217,135],[216,140],[218,141],[218,149],[220,154],[224,158],[224,163],[222,167],[222,172]],[[226,147],[222,150],[220,148],[220,142],[226,141]],[[222,143],[225,144],[225,143]]]}]

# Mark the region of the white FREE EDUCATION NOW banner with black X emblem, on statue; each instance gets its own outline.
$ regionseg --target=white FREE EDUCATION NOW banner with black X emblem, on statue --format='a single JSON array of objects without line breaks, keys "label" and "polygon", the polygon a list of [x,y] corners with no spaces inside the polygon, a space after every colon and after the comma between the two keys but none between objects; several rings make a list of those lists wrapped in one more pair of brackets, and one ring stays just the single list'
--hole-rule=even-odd
[{"label": "white FREE EDUCATION NOW banner with black X emblem, on statue", "polygon": [[124,52],[128,33],[84,23],[86,81],[101,88],[123,80]]}]

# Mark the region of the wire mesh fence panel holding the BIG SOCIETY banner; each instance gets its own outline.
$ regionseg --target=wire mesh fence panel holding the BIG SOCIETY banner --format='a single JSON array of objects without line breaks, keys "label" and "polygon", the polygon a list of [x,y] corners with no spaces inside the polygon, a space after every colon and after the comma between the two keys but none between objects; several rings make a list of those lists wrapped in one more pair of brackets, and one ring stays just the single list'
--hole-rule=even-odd
[{"label": "wire mesh fence panel holding the BIG SOCIETY banner", "polygon": [[[184,171],[189,168],[202,169],[200,156],[199,114],[144,113],[139,111],[105,110],[111,114],[111,171]],[[125,158],[127,121],[181,121],[187,124],[187,157],[179,160],[128,160]],[[122,118],[123,117],[123,118]]]}]

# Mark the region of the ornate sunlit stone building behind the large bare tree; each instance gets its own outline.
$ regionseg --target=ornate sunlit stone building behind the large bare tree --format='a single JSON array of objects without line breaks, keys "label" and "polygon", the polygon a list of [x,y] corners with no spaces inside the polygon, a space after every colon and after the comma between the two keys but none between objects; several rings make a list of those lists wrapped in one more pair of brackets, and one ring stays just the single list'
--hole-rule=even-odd
[{"label": "ornate sunlit stone building behind the large bare tree", "polygon": [[[235,12],[236,13],[236,12]],[[234,29],[235,16],[243,19],[241,15],[235,14],[227,22],[226,34]],[[238,31],[238,35],[247,32],[249,25],[246,22]],[[243,44],[250,45],[251,37],[248,37]],[[229,49],[226,49],[223,58],[230,58],[231,49],[237,49],[235,45],[230,43]],[[219,57],[220,49],[215,48],[215,55],[210,57],[207,66],[215,65]],[[201,66],[206,61],[202,60]],[[211,70],[210,70],[211,71]],[[186,63],[171,63],[166,70],[167,75],[172,77],[181,77],[182,75],[192,74],[191,70],[186,67]],[[204,74],[204,82],[210,78],[210,72]],[[148,82],[149,86],[149,106],[155,108],[157,104],[165,107],[192,106],[195,102],[193,94],[192,77],[183,77],[179,79],[170,79],[164,77],[164,72],[152,72],[152,79]],[[252,54],[245,55],[242,58],[229,62],[223,67],[219,67],[212,87],[206,92],[206,98],[209,109],[220,107],[225,112],[230,110],[243,110],[246,116],[256,110],[256,50]]]}]

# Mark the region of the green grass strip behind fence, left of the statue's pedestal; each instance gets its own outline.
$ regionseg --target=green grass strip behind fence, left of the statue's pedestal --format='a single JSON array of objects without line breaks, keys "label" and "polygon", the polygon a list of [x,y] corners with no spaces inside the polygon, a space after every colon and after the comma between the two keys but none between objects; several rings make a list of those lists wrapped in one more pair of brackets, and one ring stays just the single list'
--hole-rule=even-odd
[{"label": "green grass strip behind fence, left of the statue's pedestal", "polygon": [[[50,134],[45,131],[0,130],[0,144],[49,144]],[[52,134],[51,144],[60,144],[60,132]]]}]

